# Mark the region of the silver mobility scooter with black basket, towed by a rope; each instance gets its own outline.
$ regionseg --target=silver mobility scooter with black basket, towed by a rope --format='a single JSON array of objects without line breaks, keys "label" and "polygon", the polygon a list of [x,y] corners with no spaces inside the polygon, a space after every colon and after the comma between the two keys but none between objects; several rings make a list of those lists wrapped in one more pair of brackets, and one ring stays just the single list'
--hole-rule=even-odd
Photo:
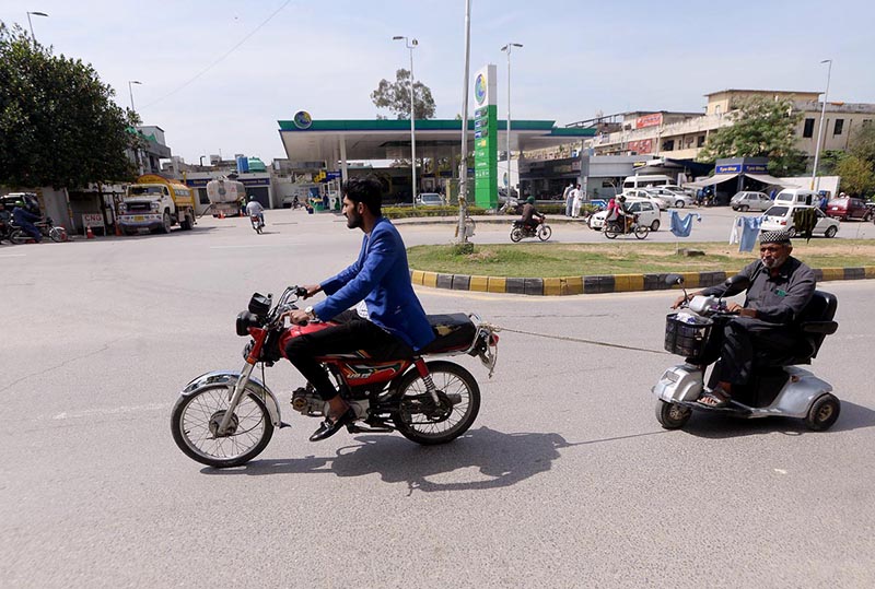
[{"label": "silver mobility scooter with black basket, towed by a rope", "polygon": [[[744,286],[744,276],[725,283],[724,294],[733,286]],[[668,284],[682,284],[677,274],[666,278]],[[686,295],[686,290],[684,291]],[[836,423],[841,403],[832,394],[832,385],[816,377],[798,364],[810,364],[824,339],[835,333],[832,320],[838,303],[835,295],[815,291],[814,297],[797,322],[800,337],[786,357],[769,365],[754,365],[754,376],[745,386],[733,386],[732,399],[725,407],[697,403],[704,389],[704,367],[697,363],[710,338],[736,314],[727,311],[722,297],[695,296],[678,313],[669,314],[665,327],[665,349],[686,356],[684,364],[665,370],[652,391],[656,396],[656,420],[666,429],[684,427],[693,411],[721,413],[736,417],[783,415],[804,420],[814,431],[828,429]],[[720,375],[712,370],[709,385],[715,386]]]}]

